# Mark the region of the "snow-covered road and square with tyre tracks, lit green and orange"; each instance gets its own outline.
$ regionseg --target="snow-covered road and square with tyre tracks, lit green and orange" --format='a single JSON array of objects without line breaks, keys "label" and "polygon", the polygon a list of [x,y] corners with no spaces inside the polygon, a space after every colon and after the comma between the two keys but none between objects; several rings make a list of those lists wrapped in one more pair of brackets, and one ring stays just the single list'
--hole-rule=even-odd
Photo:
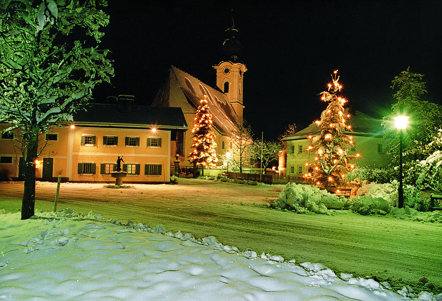
[{"label": "snow-covered road and square with tyre tracks, lit green and orange", "polygon": [[[163,224],[167,231],[192,232],[199,238],[214,235],[241,251],[251,248],[258,257],[264,252],[298,263],[320,262],[336,274],[373,276],[397,289],[422,276],[436,288],[442,284],[440,224],[351,212],[294,214],[254,206],[277,197],[268,186],[194,179],[179,179],[178,185],[131,186],[107,189],[103,184],[62,183],[58,209],[92,210],[108,219],[132,219],[152,227]],[[55,187],[56,183],[37,184],[36,208],[52,211]],[[23,184],[0,183],[0,210],[17,212],[22,194]]]}]

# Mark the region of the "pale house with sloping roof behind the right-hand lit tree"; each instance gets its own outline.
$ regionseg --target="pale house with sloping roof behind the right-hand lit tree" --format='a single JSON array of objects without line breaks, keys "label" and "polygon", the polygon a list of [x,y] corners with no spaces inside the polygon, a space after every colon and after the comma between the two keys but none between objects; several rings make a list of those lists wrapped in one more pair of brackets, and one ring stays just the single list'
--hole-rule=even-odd
[{"label": "pale house with sloping roof behind the right-hand lit tree", "polygon": [[[348,108],[344,110],[348,114]],[[359,111],[350,114],[347,123],[351,125],[352,131],[343,133],[352,135],[354,147],[350,155],[361,154],[362,159],[354,160],[358,166],[386,166],[390,164],[388,156],[385,154],[387,141],[382,137],[383,127],[381,120],[372,118]],[[286,149],[279,157],[279,175],[303,175],[308,172],[305,167],[306,162],[313,162],[314,155],[306,151],[310,144],[308,136],[320,135],[321,127],[311,124],[299,132],[283,138]]]}]

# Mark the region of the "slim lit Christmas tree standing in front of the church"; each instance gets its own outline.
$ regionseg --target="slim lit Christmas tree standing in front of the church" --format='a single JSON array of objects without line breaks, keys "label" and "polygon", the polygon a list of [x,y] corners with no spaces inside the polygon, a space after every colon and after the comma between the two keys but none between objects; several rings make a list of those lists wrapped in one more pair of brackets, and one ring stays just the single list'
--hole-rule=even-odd
[{"label": "slim lit Christmas tree standing in front of the church", "polygon": [[191,152],[191,163],[204,168],[217,166],[218,158],[215,148],[215,134],[210,129],[212,127],[212,114],[209,112],[210,107],[207,105],[207,95],[203,95],[200,100],[196,116],[194,118],[195,125],[192,129],[194,143],[192,144],[193,152]]}]

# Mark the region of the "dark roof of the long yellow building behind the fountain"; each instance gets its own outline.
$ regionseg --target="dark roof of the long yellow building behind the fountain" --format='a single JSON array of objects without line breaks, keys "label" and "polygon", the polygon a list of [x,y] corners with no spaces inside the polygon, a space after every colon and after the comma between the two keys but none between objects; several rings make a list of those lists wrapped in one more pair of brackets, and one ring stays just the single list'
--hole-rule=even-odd
[{"label": "dark roof of the long yellow building behind the fountain", "polygon": [[116,104],[90,103],[85,108],[87,111],[73,114],[74,123],[180,130],[189,128],[179,107],[133,106],[132,110],[118,110]]}]

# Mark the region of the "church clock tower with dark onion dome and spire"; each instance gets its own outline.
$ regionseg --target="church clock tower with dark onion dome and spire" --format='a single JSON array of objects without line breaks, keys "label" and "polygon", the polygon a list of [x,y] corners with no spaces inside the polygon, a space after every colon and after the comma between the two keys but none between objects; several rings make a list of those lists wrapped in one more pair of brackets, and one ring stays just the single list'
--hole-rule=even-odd
[{"label": "church clock tower with dark onion dome and spire", "polygon": [[217,70],[217,87],[227,95],[235,113],[243,118],[243,78],[247,68],[238,62],[242,46],[235,38],[237,33],[232,17],[232,26],[225,30],[226,38],[222,46],[224,60],[213,68]]}]

